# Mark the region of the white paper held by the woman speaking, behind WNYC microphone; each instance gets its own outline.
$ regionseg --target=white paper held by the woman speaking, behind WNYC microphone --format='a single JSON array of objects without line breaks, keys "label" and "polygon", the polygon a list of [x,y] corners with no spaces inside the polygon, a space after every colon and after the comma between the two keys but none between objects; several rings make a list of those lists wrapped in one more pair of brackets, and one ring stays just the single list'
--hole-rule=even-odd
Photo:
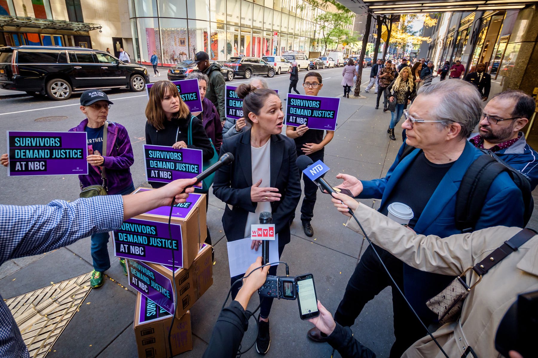
[{"label": "white paper held by the woman speaking, behind WNYC microphone", "polygon": [[[278,261],[278,233],[275,240],[267,241],[269,244],[269,262]],[[228,263],[230,265],[230,277],[244,274],[246,270],[261,256],[261,245],[258,251],[250,248],[252,238],[228,242]],[[278,264],[275,264],[278,265]],[[273,266],[273,265],[271,265]]]}]

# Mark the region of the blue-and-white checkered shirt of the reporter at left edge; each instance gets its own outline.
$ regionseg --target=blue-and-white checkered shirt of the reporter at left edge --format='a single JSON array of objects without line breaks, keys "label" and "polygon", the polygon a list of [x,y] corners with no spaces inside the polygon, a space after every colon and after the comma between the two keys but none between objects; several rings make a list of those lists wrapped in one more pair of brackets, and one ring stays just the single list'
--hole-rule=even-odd
[{"label": "blue-and-white checkered shirt of the reporter at left edge", "polygon": [[[9,259],[58,249],[123,222],[121,195],[95,196],[47,205],[0,205],[0,265]],[[26,358],[28,350],[0,296],[0,357]]]}]

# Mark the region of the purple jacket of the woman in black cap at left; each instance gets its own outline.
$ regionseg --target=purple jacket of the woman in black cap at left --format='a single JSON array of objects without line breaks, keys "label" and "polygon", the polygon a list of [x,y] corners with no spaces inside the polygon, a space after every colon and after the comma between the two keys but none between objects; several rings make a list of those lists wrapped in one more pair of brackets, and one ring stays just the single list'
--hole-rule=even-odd
[{"label": "purple jacket of the woman in black cap at left", "polygon": [[[69,131],[84,131],[87,125],[88,119],[84,119],[80,125]],[[134,163],[133,149],[127,130],[119,123],[108,123],[107,150],[103,157],[109,194],[119,193],[132,184],[129,167]],[[79,180],[84,187],[101,185],[101,172],[98,167],[88,163],[88,175],[79,176]]]}]

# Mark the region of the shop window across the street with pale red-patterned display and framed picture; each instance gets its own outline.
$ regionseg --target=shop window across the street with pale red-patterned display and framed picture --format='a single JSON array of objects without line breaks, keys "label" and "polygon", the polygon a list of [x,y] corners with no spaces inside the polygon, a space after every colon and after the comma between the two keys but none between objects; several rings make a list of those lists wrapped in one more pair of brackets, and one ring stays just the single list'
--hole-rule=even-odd
[{"label": "shop window across the street with pale red-patterned display and framed picture", "polygon": [[[187,20],[160,19],[160,24],[162,36],[162,62],[175,64],[187,60],[189,53]],[[141,47],[144,46],[141,45]]]}]

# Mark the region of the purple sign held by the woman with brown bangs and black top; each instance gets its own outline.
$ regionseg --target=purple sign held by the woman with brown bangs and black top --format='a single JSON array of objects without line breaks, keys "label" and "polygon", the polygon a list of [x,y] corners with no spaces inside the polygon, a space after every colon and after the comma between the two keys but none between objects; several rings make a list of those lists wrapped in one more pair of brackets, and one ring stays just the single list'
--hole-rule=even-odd
[{"label": "purple sign held by the woman with brown bangs and black top", "polygon": [[190,179],[203,170],[202,150],[144,144],[144,164],[147,181],[171,182],[176,179]]}]

